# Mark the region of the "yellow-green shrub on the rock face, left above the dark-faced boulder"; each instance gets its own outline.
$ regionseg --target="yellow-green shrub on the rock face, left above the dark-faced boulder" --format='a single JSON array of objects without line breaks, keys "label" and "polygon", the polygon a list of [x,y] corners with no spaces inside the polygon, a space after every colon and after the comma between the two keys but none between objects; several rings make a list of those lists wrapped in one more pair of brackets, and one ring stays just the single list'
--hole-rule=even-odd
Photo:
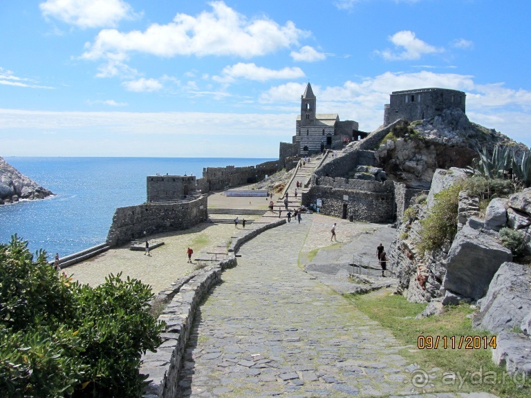
[{"label": "yellow-green shrub on the rock face, left above the dark-faced boulder", "polygon": [[436,193],[434,206],[420,222],[420,252],[440,249],[456,235],[459,192],[463,190],[463,186],[463,181],[456,182],[448,189]]}]

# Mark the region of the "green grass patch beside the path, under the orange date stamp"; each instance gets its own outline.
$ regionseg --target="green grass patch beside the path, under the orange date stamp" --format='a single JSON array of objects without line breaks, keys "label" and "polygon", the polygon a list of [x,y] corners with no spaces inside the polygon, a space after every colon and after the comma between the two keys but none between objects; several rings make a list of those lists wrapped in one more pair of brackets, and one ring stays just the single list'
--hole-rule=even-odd
[{"label": "green grass patch beside the path, under the orange date stamp", "polygon": [[[473,312],[469,305],[447,307],[440,316],[416,320],[415,316],[422,312],[426,305],[409,303],[403,296],[377,292],[364,296],[350,295],[347,299],[371,319],[391,330],[395,338],[404,345],[416,348],[419,336],[431,336],[434,343],[436,337],[440,337],[437,349],[404,349],[400,352],[423,370],[440,368],[434,379],[437,388],[454,392],[486,391],[499,397],[530,396],[531,383],[528,379],[522,375],[506,375],[505,367],[494,365],[491,359],[492,349],[489,347],[492,334],[472,328],[472,321],[467,318],[467,315]],[[452,336],[456,337],[455,348],[452,348]],[[459,349],[461,336],[481,337],[481,348],[465,349],[463,342],[462,348]],[[443,337],[447,337],[446,349]],[[486,337],[487,349],[483,347],[483,337]],[[425,342],[420,339],[421,344]],[[452,372],[456,379],[452,381],[444,372]]]}]

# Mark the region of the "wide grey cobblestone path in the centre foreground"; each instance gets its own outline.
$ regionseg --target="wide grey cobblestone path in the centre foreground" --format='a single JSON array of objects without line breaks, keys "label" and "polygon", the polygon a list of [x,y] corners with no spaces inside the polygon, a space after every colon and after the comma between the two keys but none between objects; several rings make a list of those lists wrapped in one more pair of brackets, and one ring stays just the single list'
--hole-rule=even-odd
[{"label": "wide grey cobblestone path in the centre foreground", "polygon": [[196,313],[183,397],[411,393],[409,363],[391,334],[298,267],[311,220],[240,249],[238,266]]}]

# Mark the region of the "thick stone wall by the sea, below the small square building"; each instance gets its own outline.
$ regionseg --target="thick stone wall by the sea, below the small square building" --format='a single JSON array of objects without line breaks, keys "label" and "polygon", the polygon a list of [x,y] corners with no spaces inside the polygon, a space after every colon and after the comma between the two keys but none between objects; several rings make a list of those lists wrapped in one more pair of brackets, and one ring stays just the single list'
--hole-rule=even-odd
[{"label": "thick stone wall by the sea, below the small square building", "polygon": [[119,207],[107,235],[107,245],[119,246],[159,232],[188,229],[207,219],[207,196],[175,203]]}]

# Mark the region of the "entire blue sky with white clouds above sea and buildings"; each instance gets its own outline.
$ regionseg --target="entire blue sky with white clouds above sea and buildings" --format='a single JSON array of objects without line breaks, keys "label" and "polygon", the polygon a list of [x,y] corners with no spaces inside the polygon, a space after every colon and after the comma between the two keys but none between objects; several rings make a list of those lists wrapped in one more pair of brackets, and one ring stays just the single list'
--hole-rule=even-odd
[{"label": "entire blue sky with white clouds above sea and buildings", "polygon": [[391,91],[467,93],[531,144],[531,1],[2,0],[0,156],[276,158],[310,82],[373,131]]}]

